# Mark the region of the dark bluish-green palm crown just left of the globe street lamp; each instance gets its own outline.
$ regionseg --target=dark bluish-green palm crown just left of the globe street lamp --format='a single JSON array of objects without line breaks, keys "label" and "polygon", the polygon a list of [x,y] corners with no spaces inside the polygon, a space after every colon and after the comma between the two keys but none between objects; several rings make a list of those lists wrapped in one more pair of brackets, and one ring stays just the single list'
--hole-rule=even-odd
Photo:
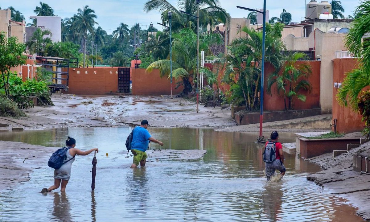
[{"label": "dark bluish-green palm crown just left of the globe street lamp", "polygon": [[145,49],[151,53],[155,60],[165,59],[169,53],[169,37],[166,33],[158,31],[155,36],[145,44]]}]

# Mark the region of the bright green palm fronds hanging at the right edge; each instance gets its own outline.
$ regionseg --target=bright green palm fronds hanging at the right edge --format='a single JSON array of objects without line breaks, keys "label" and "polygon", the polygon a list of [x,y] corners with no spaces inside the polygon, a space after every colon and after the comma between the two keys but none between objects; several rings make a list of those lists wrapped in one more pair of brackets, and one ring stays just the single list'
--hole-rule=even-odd
[{"label": "bright green palm fronds hanging at the right edge", "polygon": [[370,1],[362,1],[355,13],[357,16],[347,34],[346,47],[358,58],[359,68],[347,73],[338,90],[337,101],[357,111],[359,95],[364,87],[370,85],[370,42],[363,40],[363,36],[370,32]]}]

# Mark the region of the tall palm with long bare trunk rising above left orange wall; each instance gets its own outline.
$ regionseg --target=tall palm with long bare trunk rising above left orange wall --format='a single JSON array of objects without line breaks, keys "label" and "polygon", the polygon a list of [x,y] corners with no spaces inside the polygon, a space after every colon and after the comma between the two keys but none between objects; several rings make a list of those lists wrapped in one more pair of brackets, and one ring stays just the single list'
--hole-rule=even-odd
[{"label": "tall palm with long bare trunk rising above left orange wall", "polygon": [[[90,9],[89,6],[85,6],[84,9],[77,10],[77,17],[74,21],[74,29],[79,33],[82,33],[82,44],[84,48],[84,63],[85,63],[85,51],[86,51],[86,38],[88,31],[92,33],[94,31],[94,25],[98,24],[95,19],[97,16],[94,14],[95,11]],[[85,65],[84,65],[85,67]]]}]

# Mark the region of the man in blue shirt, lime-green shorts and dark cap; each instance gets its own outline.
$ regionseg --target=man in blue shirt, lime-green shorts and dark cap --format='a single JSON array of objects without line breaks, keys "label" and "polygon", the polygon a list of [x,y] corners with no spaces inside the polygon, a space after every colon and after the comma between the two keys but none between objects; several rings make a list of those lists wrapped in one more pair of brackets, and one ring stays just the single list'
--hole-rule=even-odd
[{"label": "man in blue shirt, lime-green shorts and dark cap", "polygon": [[136,168],[139,163],[140,166],[145,166],[145,162],[147,161],[147,151],[149,141],[155,142],[161,146],[163,143],[154,139],[148,132],[149,124],[147,120],[141,121],[140,126],[134,128],[134,133],[132,134],[132,142],[131,142],[131,152],[134,154],[134,161],[131,165],[131,168]]}]

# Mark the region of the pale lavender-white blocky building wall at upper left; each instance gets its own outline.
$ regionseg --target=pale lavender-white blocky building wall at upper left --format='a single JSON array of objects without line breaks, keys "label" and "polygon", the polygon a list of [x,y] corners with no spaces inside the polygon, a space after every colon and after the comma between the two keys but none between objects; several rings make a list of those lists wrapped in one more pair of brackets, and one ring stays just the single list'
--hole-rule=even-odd
[{"label": "pale lavender-white blocky building wall at upper left", "polygon": [[[45,28],[51,31],[51,40],[53,42],[61,41],[61,19],[59,16],[33,16],[37,19],[37,27]],[[45,35],[44,38],[50,37]]]}]

